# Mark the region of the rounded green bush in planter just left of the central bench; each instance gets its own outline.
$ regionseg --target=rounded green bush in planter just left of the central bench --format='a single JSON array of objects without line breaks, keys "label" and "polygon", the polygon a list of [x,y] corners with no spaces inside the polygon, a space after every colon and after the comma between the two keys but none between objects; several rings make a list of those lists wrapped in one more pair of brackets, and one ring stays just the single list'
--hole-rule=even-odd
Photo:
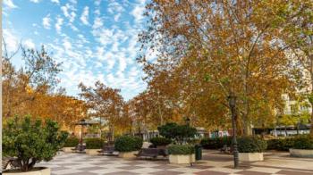
[{"label": "rounded green bush in planter just left of the central bench", "polygon": [[142,138],[122,136],[114,142],[114,149],[119,152],[131,152],[140,150],[142,147]]}]

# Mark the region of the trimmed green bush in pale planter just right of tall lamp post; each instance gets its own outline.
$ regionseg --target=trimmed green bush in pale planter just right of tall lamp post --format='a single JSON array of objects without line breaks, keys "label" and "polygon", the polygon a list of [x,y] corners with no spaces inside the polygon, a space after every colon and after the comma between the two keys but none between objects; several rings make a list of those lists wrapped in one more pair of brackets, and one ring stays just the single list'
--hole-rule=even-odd
[{"label": "trimmed green bush in pale planter just right of tall lamp post", "polygon": [[238,138],[239,153],[262,153],[266,150],[266,141],[258,137]]}]

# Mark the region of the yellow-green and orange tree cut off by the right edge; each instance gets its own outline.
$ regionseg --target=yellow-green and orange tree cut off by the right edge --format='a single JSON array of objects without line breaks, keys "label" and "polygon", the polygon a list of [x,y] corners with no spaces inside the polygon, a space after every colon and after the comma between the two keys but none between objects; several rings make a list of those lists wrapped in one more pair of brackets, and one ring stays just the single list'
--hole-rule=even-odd
[{"label": "yellow-green and orange tree cut off by the right edge", "polygon": [[[313,2],[288,1],[280,12],[284,21],[283,42],[290,48],[290,54],[299,66],[300,81],[304,87],[300,91],[307,94],[309,103],[313,106]],[[304,90],[303,90],[304,88]],[[313,107],[311,109],[310,134],[313,136]]]}]

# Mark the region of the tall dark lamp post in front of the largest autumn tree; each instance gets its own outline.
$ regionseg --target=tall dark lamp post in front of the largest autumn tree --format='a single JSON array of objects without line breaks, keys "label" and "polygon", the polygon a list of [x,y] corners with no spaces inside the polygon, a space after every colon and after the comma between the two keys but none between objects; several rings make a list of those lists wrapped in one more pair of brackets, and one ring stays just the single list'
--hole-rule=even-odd
[{"label": "tall dark lamp post in front of the largest autumn tree", "polygon": [[228,96],[229,106],[232,112],[232,125],[233,125],[233,165],[234,168],[238,168],[239,159],[238,159],[238,147],[237,147],[237,112],[236,112],[236,96],[230,95]]}]

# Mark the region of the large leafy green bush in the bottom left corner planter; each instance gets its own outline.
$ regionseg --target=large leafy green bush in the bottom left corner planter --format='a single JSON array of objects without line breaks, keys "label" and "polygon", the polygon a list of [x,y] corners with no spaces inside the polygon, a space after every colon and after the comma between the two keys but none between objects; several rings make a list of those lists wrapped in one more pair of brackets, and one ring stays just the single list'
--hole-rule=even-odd
[{"label": "large leafy green bush in the bottom left corner planter", "polygon": [[7,122],[3,129],[4,156],[17,157],[21,171],[30,171],[36,162],[50,161],[63,146],[67,134],[58,131],[55,121],[31,121],[30,117]]}]

